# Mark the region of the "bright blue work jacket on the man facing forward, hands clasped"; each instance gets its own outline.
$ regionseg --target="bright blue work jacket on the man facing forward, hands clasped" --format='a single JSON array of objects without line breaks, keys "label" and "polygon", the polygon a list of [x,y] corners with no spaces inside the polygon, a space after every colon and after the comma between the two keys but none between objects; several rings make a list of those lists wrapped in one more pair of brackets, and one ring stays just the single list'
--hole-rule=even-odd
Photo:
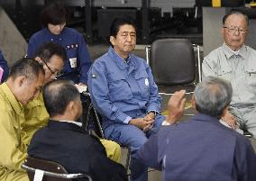
[{"label": "bright blue work jacket on the man facing forward, hands clasped", "polygon": [[104,127],[160,112],[161,97],[151,68],[133,54],[125,61],[110,47],[88,71],[88,87]]}]

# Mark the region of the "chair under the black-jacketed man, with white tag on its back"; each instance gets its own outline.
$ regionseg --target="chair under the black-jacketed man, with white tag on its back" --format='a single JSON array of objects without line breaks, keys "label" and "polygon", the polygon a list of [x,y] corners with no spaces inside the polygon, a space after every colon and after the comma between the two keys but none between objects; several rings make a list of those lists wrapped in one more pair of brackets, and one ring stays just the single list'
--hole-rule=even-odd
[{"label": "chair under the black-jacketed man, with white tag on its back", "polygon": [[59,163],[40,158],[28,157],[22,167],[27,171],[30,181],[72,181],[81,177],[87,177],[88,181],[92,181],[87,174],[70,174]]}]

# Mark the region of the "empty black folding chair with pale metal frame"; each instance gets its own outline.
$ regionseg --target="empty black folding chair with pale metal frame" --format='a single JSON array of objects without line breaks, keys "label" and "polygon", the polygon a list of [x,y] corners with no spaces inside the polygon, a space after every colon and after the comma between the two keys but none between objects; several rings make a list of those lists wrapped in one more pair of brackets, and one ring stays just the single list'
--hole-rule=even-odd
[{"label": "empty black folding chair with pale metal frame", "polygon": [[[197,60],[194,47],[197,49]],[[200,47],[187,39],[162,39],[146,47],[146,59],[151,66],[160,95],[172,95],[185,89],[194,92],[201,81]]]}]

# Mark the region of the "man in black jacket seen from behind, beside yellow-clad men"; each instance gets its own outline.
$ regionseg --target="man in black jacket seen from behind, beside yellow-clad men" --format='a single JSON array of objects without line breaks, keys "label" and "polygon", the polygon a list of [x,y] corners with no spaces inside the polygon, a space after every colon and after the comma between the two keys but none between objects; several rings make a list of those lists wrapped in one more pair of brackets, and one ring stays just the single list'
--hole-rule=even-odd
[{"label": "man in black jacket seen from behind, beside yellow-clad men", "polygon": [[124,167],[107,158],[100,140],[76,122],[82,113],[76,86],[70,81],[50,82],[43,88],[43,101],[50,122],[33,135],[30,157],[58,162],[68,172],[87,173],[93,180],[127,180]]}]

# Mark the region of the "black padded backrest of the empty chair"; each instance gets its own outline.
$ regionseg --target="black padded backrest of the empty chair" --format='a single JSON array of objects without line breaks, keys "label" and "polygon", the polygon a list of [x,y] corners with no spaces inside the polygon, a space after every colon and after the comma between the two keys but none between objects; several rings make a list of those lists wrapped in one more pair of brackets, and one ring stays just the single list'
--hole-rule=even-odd
[{"label": "black padded backrest of the empty chair", "polygon": [[196,60],[187,39],[164,39],[151,44],[150,66],[160,86],[181,86],[196,79]]}]

